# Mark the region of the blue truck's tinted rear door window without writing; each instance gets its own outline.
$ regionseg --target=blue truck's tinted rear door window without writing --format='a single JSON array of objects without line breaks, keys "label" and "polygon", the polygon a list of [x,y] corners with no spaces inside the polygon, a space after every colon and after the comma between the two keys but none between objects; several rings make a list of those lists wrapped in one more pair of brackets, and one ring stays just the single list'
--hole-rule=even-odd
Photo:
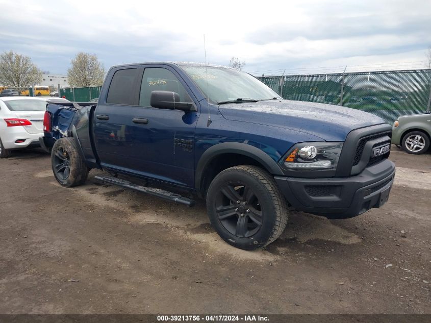
[{"label": "blue truck's tinted rear door window without writing", "polygon": [[106,103],[128,106],[134,105],[135,98],[133,94],[137,74],[137,68],[117,70],[109,85]]}]

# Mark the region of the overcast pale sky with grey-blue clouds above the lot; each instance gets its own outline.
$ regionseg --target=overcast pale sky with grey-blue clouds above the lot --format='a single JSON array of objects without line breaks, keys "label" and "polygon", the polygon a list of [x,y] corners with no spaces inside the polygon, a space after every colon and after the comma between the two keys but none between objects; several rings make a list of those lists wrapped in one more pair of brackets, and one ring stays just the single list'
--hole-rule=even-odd
[{"label": "overcast pale sky with grey-blue clouds above the lot", "polygon": [[112,65],[227,65],[253,74],[424,68],[431,1],[0,0],[0,51],[66,73],[78,52]]}]

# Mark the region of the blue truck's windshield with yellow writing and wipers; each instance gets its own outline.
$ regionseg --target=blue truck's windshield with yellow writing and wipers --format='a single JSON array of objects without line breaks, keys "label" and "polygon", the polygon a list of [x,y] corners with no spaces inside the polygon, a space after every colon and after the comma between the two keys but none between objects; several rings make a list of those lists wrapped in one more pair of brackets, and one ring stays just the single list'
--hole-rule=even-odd
[{"label": "blue truck's windshield with yellow writing and wipers", "polygon": [[[196,85],[208,96],[211,103],[247,98],[269,100],[280,97],[261,81],[250,74],[232,68],[208,66],[181,66]],[[208,89],[207,74],[208,71]]]}]

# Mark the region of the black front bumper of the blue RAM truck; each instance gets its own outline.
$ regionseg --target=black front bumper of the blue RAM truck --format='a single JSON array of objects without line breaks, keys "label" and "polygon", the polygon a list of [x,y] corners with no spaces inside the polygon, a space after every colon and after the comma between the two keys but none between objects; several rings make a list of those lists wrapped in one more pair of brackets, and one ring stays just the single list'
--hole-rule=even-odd
[{"label": "black front bumper of the blue RAM truck", "polygon": [[395,179],[395,164],[385,159],[344,178],[274,179],[295,209],[327,218],[349,218],[386,202]]}]

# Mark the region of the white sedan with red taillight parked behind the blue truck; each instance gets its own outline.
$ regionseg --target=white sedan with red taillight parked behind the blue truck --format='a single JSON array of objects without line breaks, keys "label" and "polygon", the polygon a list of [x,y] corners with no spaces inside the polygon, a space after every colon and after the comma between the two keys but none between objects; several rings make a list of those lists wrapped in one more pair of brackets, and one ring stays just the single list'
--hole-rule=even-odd
[{"label": "white sedan with red taillight parked behind the blue truck", "polygon": [[0,158],[16,148],[39,146],[47,101],[67,101],[28,96],[0,97]]}]

